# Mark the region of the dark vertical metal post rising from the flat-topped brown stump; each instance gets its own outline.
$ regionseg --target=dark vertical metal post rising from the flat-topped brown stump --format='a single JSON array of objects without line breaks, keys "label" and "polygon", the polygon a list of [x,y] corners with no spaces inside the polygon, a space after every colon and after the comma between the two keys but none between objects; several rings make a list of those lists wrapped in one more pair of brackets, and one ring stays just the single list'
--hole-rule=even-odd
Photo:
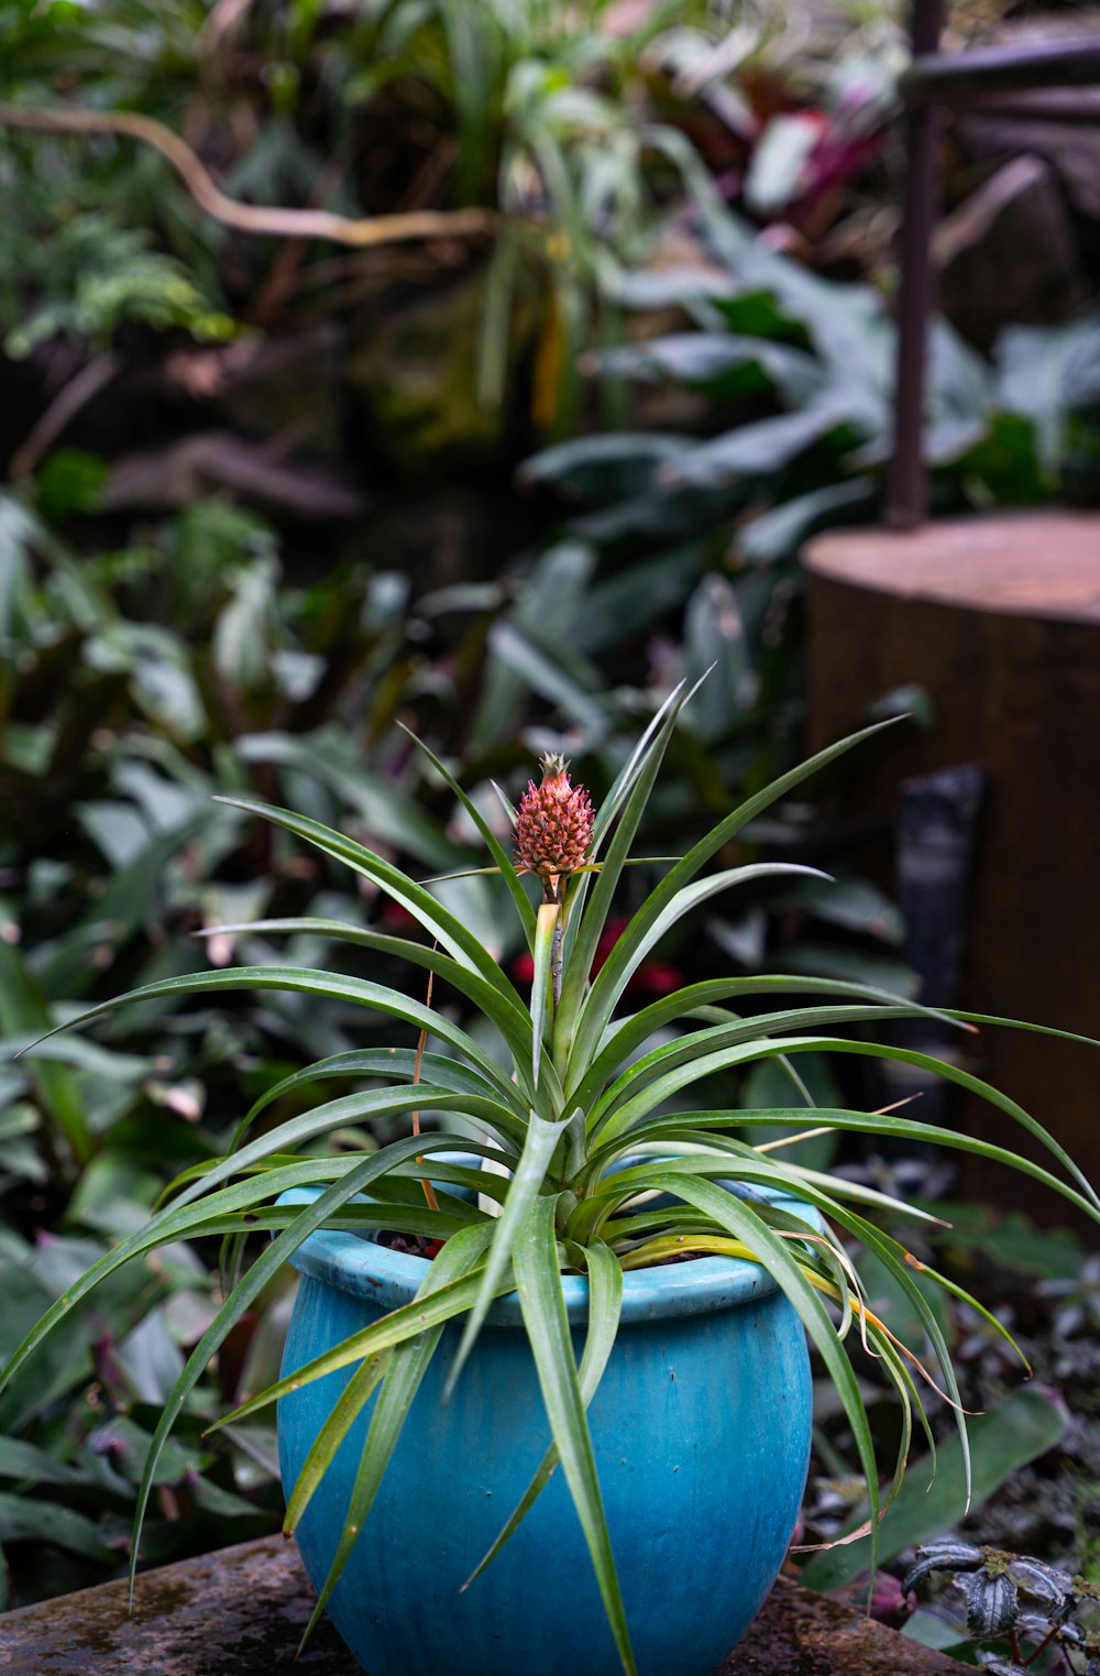
[{"label": "dark vertical metal post rising from the flat-topped brown stump", "polygon": [[[912,0],[912,54],[939,45],[943,0]],[[901,295],[897,300],[897,384],[894,453],[886,484],[886,523],[912,528],[928,513],[921,458],[924,429],[924,360],[933,307],[931,241],[936,220],[936,146],[939,112],[924,106],[906,119],[906,184],[901,218]]]}]

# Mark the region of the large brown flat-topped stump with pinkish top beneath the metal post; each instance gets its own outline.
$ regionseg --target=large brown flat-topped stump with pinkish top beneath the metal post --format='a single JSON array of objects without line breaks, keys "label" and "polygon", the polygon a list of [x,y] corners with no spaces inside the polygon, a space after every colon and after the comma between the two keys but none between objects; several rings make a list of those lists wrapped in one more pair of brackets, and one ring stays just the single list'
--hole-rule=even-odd
[{"label": "large brown flat-topped stump with pinkish top beneath the metal post", "polygon": [[[901,724],[854,761],[859,811],[887,828],[902,779],[984,771],[959,1004],[1100,1037],[1100,518],[842,531],[809,543],[805,566],[810,746],[902,685],[934,707],[931,731]],[[968,1053],[1100,1180],[1100,1049],[984,1027]],[[971,1133],[1041,1158],[1008,1118],[964,1106]],[[1067,1220],[1065,1202],[984,1161],[964,1183]]]}]

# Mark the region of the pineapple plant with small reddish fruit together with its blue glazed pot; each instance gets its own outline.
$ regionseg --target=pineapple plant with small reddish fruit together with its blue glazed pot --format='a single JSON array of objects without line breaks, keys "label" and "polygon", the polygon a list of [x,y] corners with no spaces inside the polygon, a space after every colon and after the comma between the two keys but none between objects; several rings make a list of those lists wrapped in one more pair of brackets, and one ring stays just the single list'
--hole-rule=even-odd
[{"label": "pineapple plant with small reddish fruit together with its blue glazed pot", "polygon": [[[293,1260],[305,1284],[283,1378],[228,1418],[280,1401],[286,1529],[320,1591],[315,1619],[326,1607],[372,1676],[517,1668],[707,1676],[770,1589],[795,1523],[809,1461],[807,1336],[852,1428],[872,1549],[914,1416],[928,1430],[923,1378],[943,1388],[966,1445],[936,1312],[904,1247],[864,1215],[894,1202],[740,1141],[730,1133],[737,1113],[683,1110],[708,1076],[774,1059],[792,1099],[753,1111],[753,1125],[807,1121],[941,1141],[1013,1163],[1100,1222],[1088,1182],[1005,1094],[946,1061],[834,1034],[924,1011],[912,1002],[851,982],[763,975],[690,984],[640,1011],[623,1007],[633,972],[683,915],[718,892],[792,872],[758,863],[698,877],[707,863],[876,731],[819,753],[722,820],[668,868],[596,969],[685,701],[678,689],[658,711],[598,811],[561,759],[544,761],[541,784],[531,783],[511,811],[514,855],[432,758],[519,913],[534,969],[529,999],[460,918],[390,861],[290,811],[229,799],[355,868],[430,942],[318,920],[254,929],[311,929],[412,962],[429,972],[429,1002],[432,982],[445,984],[487,1031],[382,984],[281,965],[191,974],[122,997],[290,989],[357,1002],[404,1027],[405,1046],[321,1059],[270,1089],[233,1150],[179,1177],[149,1225],[64,1294],[5,1369],[10,1378],[122,1264],[181,1239],[226,1240],[224,1302],[164,1406],[146,1461],[136,1564],[176,1416],[265,1282]],[[524,875],[541,900],[531,900]],[[752,1016],[733,1011],[743,1001]],[[84,1019],[109,1006],[117,1002]],[[963,1027],[981,1021],[951,1017]],[[1046,1145],[1067,1180],[907,1116],[807,1113],[797,1069],[807,1051],[892,1056],[984,1094]],[[372,1086],[256,1131],[283,1094],[340,1078]],[[348,1123],[393,1113],[410,1115],[402,1140],[367,1153],[303,1155]],[[439,1131],[422,1133],[422,1113],[462,1121],[449,1128],[440,1116]],[[241,1274],[254,1230],[275,1237]],[[393,1249],[395,1240],[420,1254]],[[859,1247],[916,1311],[934,1374],[866,1307],[852,1259]],[[901,1403],[886,1490],[849,1334],[881,1358]]]}]

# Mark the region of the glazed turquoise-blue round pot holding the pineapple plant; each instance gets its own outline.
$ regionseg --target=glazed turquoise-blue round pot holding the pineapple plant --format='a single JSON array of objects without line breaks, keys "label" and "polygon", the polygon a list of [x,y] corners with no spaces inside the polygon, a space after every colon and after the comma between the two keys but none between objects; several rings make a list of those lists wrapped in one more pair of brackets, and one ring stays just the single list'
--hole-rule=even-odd
[{"label": "glazed turquoise-blue round pot holding the pineapple plant", "polygon": [[[342,1232],[313,1234],[295,1264],[303,1280],[285,1374],[409,1302],[427,1270],[422,1257]],[[568,1275],[564,1289],[579,1354],[588,1282]],[[621,1676],[561,1472],[460,1592],[524,1493],[549,1428],[514,1294],[492,1307],[442,1404],[457,1341],[449,1327],[328,1616],[370,1676]],[[280,1403],[288,1493],[350,1374]],[[367,1418],[296,1532],[318,1589]],[[802,1324],[750,1262],[635,1270],[589,1423],[640,1676],[712,1676],[770,1591],[799,1515],[810,1450]]]}]

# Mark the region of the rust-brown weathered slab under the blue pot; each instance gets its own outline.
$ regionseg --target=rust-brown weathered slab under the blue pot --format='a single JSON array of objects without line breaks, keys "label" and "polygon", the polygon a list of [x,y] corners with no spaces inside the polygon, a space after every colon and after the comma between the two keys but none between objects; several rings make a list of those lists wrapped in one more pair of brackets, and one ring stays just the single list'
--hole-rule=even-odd
[{"label": "rust-brown weathered slab under the blue pot", "polygon": [[[126,1614],[122,1582],[8,1612],[0,1617],[0,1671],[5,1676],[362,1676],[328,1624],[295,1659],[311,1607],[313,1591],[296,1550],[280,1537],[265,1537],[146,1572],[137,1580],[132,1617]],[[780,1577],[748,1636],[715,1676],[964,1673],[966,1666],[954,1659]]]}]

